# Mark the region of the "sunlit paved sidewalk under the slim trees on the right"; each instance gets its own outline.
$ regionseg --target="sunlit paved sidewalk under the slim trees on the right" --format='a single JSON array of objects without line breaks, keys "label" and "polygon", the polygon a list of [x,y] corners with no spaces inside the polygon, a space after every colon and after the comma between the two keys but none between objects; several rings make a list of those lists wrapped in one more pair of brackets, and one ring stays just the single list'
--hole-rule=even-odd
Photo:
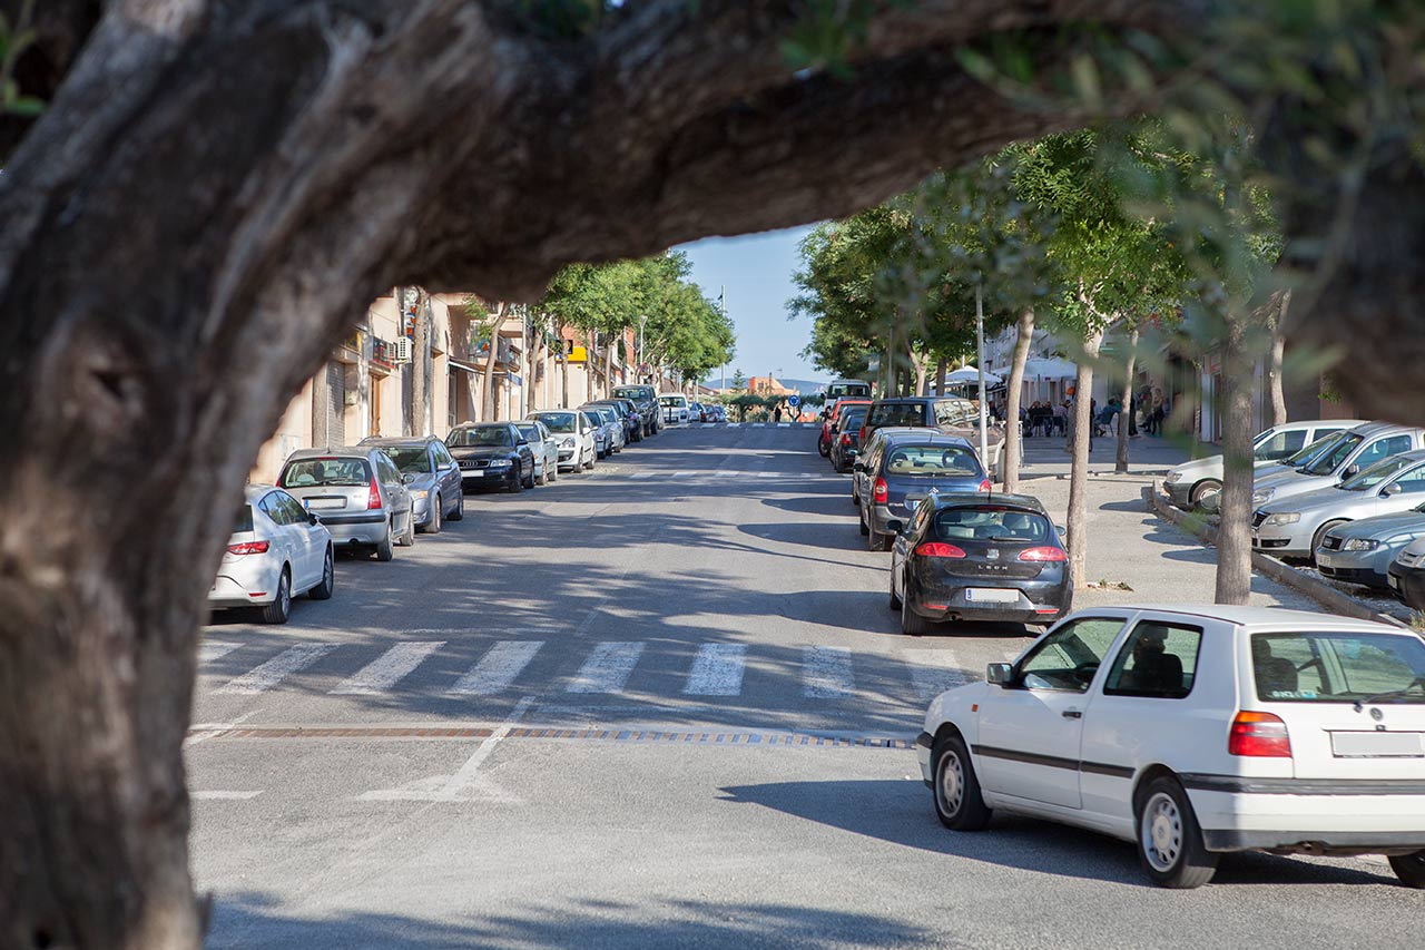
[{"label": "sunlit paved sidewalk under the slim trees on the right", "polygon": [[[1062,436],[1026,438],[1020,489],[1037,496],[1054,521],[1069,509],[1069,454]],[[1089,552],[1086,581],[1126,583],[1131,591],[1074,593],[1074,609],[1119,603],[1211,603],[1217,551],[1147,512],[1141,489],[1154,476],[1187,459],[1187,445],[1168,438],[1130,442],[1129,472],[1113,471],[1117,441],[1094,439],[1089,456]],[[1253,575],[1254,606],[1320,611],[1310,598]]]}]

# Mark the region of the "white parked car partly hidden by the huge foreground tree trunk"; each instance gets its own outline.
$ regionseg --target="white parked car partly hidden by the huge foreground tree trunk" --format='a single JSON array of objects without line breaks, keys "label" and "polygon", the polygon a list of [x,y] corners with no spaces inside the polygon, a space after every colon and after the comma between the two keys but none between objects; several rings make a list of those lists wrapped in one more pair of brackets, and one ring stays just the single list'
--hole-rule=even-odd
[{"label": "white parked car partly hidden by the huge foreground tree trunk", "polygon": [[326,601],[335,585],[332,533],[321,519],[281,488],[248,485],[208,606],[255,606],[264,623],[286,623],[292,598]]}]

